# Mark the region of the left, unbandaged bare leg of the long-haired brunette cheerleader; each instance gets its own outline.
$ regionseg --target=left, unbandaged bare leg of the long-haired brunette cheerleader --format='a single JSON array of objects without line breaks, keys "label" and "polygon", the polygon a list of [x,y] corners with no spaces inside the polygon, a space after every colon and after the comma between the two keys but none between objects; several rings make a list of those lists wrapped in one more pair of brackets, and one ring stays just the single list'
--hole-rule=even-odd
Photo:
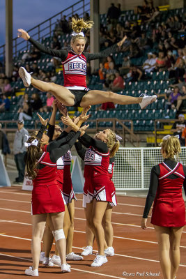
[{"label": "left, unbandaged bare leg of the long-haired brunette cheerleader", "polygon": [[40,260],[40,243],[45,229],[47,213],[31,216],[32,220],[32,241],[31,254],[33,259],[33,270],[38,269]]}]

